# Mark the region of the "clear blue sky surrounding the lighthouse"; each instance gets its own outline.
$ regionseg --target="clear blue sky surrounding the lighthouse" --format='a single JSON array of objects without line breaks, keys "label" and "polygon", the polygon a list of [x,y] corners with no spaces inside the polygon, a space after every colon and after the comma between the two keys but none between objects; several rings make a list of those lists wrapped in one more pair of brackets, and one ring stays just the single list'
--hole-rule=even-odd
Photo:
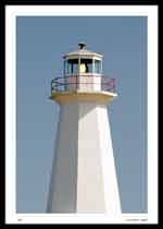
[{"label": "clear blue sky surrounding the lighthouse", "polygon": [[18,16],[16,19],[16,210],[46,210],[59,106],[50,81],[62,56],[86,41],[104,56],[118,97],[110,123],[123,213],[147,212],[147,19],[141,16]]}]

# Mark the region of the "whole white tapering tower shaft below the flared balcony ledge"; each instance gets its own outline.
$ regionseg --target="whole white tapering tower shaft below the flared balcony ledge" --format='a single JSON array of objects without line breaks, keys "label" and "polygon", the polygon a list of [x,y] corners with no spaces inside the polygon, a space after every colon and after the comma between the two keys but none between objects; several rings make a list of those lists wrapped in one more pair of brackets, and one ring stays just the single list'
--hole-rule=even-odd
[{"label": "whole white tapering tower shaft below the flared balcony ledge", "polygon": [[121,214],[106,106],[61,106],[48,212]]}]

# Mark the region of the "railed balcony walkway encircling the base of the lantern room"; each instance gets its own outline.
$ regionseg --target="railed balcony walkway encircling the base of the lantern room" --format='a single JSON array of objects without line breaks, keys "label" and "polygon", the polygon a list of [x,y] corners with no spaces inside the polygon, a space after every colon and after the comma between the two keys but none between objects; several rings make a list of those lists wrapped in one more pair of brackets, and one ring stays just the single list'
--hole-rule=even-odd
[{"label": "railed balcony walkway encircling the base of the lantern room", "polygon": [[115,79],[101,75],[71,75],[51,81],[51,95],[62,92],[111,92],[115,93]]}]

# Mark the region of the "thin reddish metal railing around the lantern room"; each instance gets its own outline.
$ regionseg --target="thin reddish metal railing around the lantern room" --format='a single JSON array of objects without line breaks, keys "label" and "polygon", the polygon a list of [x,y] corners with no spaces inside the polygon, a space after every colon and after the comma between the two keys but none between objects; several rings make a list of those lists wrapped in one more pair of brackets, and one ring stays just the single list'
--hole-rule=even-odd
[{"label": "thin reddish metal railing around the lantern room", "polygon": [[[71,75],[71,76],[64,76],[64,77],[62,76],[62,77],[53,79],[51,81],[51,94],[52,94],[52,92],[70,91],[68,85],[74,85],[73,88],[77,89],[78,84],[87,84],[87,85],[92,85],[92,84],[99,85],[100,84],[101,85],[101,91],[115,93],[115,79],[108,79],[108,77],[103,77],[101,75],[93,75],[93,77],[95,76],[96,77],[101,77],[101,81],[99,83],[92,83],[92,82],[82,83],[82,82],[78,82],[78,79],[79,77],[82,79],[82,76],[83,75]],[[91,76],[92,75],[90,75],[90,79],[91,79]]]}]

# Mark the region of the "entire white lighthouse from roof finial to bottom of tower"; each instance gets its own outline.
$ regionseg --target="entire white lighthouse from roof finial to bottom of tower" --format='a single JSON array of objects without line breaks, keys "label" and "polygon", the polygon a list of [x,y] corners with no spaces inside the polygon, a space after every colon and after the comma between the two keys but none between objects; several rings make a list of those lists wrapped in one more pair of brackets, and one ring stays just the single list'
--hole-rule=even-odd
[{"label": "entire white lighthouse from roof finial to bottom of tower", "polygon": [[47,213],[121,214],[108,106],[115,80],[102,74],[103,56],[85,43],[63,56],[63,76],[51,81],[60,106]]}]

